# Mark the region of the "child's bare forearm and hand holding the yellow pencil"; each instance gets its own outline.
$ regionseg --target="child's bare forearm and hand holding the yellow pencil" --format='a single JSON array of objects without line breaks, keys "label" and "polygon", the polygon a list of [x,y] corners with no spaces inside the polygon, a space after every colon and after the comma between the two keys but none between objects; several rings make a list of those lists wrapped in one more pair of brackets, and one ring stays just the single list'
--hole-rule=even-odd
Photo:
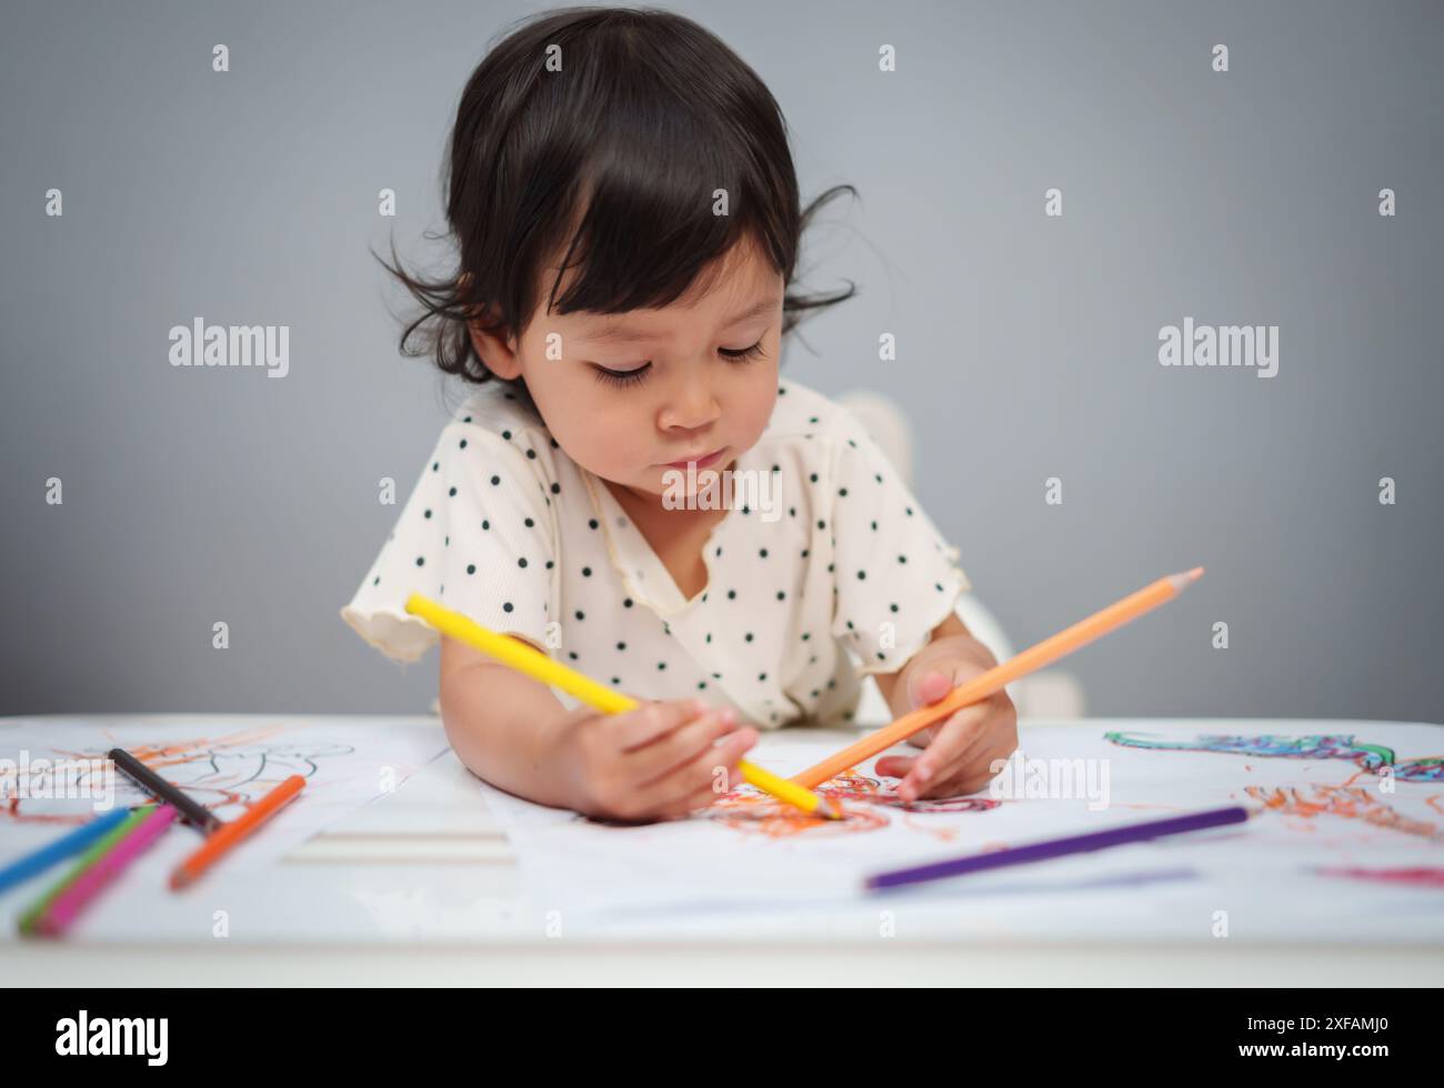
[{"label": "child's bare forearm and hand holding the yellow pencil", "polygon": [[690,698],[622,714],[567,710],[544,684],[451,638],[442,638],[440,710],[446,739],[475,775],[543,805],[614,820],[706,807],[742,782],[738,760],[758,736],[739,729],[729,707]]}]

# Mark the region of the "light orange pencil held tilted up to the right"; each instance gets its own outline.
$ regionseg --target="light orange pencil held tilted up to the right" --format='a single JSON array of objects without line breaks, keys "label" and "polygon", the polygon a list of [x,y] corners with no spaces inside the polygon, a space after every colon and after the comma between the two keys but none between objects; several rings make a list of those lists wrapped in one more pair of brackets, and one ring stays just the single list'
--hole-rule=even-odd
[{"label": "light orange pencil held tilted up to the right", "polygon": [[1183,574],[1165,574],[1157,582],[1151,582],[1136,593],[1129,593],[1122,600],[1109,605],[1100,612],[1095,612],[1087,619],[1082,619],[1071,628],[1064,628],[1057,635],[1043,639],[1035,646],[1030,646],[1001,665],[995,665],[986,672],[980,672],[966,684],[959,684],[937,703],[908,711],[891,726],[884,726],[875,733],[868,733],[853,745],[842,749],[836,755],[827,756],[816,766],[810,766],[801,773],[793,775],[793,782],[816,789],[830,778],[836,778],[843,771],[856,766],[865,759],[871,759],[879,752],[885,752],[900,740],[907,740],[920,729],[931,726],[934,721],[947,719],[969,703],[976,703],[999,691],[1006,684],[1048,665],[1058,658],[1071,654],[1080,646],[1086,646],[1096,638],[1102,638],[1115,628],[1123,626],[1132,619],[1138,619],[1145,612],[1158,607],[1164,602],[1173,600],[1191,583],[1203,576],[1203,567],[1186,570]]}]

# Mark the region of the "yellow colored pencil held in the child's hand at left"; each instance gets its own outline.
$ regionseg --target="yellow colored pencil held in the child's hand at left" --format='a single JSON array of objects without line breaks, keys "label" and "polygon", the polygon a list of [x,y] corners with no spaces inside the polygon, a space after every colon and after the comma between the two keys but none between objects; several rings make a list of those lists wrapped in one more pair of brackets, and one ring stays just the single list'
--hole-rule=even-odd
[{"label": "yellow colored pencil held in the child's hand at left", "polygon": [[[591,677],[578,672],[575,668],[563,665],[560,661],[549,658],[539,649],[520,642],[518,639],[498,635],[495,631],[484,628],[474,619],[453,612],[443,605],[438,605],[430,597],[412,593],[406,599],[406,610],[413,616],[420,616],[443,635],[449,635],[458,642],[479,649],[487,657],[495,658],[503,665],[510,665],[518,672],[537,680],[549,687],[557,687],[569,696],[579,698],[593,710],[604,714],[621,714],[641,706],[635,698],[602,687]],[[736,769],[742,778],[758,789],[771,794],[778,801],[796,805],[804,812],[826,817],[827,820],[842,820],[842,811],[827,798],[814,794],[806,786],[764,771],[745,759],[738,760]]]}]

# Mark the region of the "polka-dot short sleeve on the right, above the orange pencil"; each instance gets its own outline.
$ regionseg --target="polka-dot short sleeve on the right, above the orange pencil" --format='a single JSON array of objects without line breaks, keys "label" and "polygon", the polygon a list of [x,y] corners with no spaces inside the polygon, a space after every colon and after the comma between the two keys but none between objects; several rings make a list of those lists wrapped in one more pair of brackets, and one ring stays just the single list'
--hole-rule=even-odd
[{"label": "polka-dot short sleeve on the right, above the orange pencil", "polygon": [[892,462],[851,414],[835,439],[827,509],[833,554],[832,633],[858,672],[895,672],[972,589],[950,545]]}]

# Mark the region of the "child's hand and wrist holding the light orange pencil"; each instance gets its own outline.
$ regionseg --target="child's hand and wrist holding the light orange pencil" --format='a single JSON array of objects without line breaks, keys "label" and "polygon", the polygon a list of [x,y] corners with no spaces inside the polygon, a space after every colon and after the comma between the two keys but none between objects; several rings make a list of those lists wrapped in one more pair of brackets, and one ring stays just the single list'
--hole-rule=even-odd
[{"label": "child's hand and wrist holding the light orange pencil", "polygon": [[[936,657],[904,668],[910,710],[937,703],[959,684],[998,664],[992,652],[973,638],[954,636],[967,645],[939,648]],[[936,644],[934,644],[936,646]],[[1018,747],[1018,711],[1006,691],[996,691],[952,716],[914,733],[908,743],[927,750],[920,756],[882,756],[877,772],[901,778],[897,795],[905,801],[924,797],[959,797],[986,786],[995,776],[991,765],[1008,759]]]}]

